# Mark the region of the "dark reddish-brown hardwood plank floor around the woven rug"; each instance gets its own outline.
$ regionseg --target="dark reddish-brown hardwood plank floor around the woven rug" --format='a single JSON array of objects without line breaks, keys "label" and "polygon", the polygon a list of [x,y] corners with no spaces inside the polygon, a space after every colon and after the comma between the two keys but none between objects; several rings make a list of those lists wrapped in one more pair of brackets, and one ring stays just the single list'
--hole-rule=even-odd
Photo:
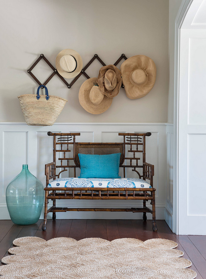
[{"label": "dark reddish-brown hardwood plank floor around the woven rug", "polygon": [[[175,235],[164,220],[157,220],[158,231],[152,231],[150,220],[47,220],[47,230],[42,231],[42,220],[36,224],[20,226],[11,220],[0,220],[0,259],[9,255],[12,241],[22,236],[38,236],[46,240],[54,237],[101,237],[107,240],[131,237],[140,240],[165,238],[178,243],[184,258],[192,261],[191,269],[196,279],[206,279],[206,235]],[[2,265],[2,263],[0,263]],[[184,279],[184,278],[183,278]]]}]

